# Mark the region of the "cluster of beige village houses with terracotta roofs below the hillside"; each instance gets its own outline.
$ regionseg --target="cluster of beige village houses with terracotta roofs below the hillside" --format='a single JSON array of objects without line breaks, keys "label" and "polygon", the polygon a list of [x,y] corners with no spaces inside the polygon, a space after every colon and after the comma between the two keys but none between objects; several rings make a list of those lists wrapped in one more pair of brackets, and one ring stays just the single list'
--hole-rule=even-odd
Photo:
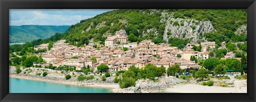
[{"label": "cluster of beige village houses with terracotta roofs below the hillside", "polygon": [[[35,46],[35,50],[45,49],[48,45]],[[193,51],[193,45],[201,46],[201,52]],[[84,67],[90,66],[90,69],[97,71],[99,65],[105,64],[110,72],[126,71],[132,65],[142,68],[148,63],[157,67],[163,65],[166,70],[175,63],[178,63],[181,69],[199,69],[201,66],[190,61],[190,57],[195,56],[203,60],[209,58],[207,48],[215,48],[215,42],[187,44],[180,50],[178,47],[170,47],[170,44],[156,45],[151,40],[143,40],[139,44],[128,43],[127,36],[120,35],[117,31],[115,36],[108,36],[105,45],[97,42],[77,47],[65,43],[65,40],[59,40],[53,44],[51,50],[40,54],[47,64],[57,67],[67,65],[76,67],[76,70],[84,70]],[[229,52],[225,57],[234,57],[234,54]]]}]

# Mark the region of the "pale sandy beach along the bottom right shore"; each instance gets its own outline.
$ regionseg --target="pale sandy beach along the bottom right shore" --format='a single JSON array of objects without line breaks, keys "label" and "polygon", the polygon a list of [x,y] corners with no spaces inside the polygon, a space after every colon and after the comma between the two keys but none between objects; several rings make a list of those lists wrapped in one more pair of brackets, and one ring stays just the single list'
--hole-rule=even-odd
[{"label": "pale sandy beach along the bottom right shore", "polygon": [[178,93],[237,93],[235,87],[202,86],[199,84],[178,84],[173,88],[167,88],[165,92]]}]

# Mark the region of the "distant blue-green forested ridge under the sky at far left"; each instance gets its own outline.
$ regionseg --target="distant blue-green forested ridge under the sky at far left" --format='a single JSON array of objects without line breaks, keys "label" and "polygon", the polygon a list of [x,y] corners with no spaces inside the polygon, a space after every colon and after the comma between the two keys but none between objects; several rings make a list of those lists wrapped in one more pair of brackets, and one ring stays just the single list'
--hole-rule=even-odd
[{"label": "distant blue-green forested ridge under the sky at far left", "polygon": [[70,25],[10,25],[10,43],[27,43],[36,39],[46,39],[56,32],[66,32]]}]

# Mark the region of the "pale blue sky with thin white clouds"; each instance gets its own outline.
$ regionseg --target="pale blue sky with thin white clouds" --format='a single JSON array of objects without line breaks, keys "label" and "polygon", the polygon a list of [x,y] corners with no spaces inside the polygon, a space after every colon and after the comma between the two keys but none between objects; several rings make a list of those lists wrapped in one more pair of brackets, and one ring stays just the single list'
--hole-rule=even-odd
[{"label": "pale blue sky with thin white clouds", "polygon": [[9,25],[72,25],[107,12],[107,9],[11,9]]}]

